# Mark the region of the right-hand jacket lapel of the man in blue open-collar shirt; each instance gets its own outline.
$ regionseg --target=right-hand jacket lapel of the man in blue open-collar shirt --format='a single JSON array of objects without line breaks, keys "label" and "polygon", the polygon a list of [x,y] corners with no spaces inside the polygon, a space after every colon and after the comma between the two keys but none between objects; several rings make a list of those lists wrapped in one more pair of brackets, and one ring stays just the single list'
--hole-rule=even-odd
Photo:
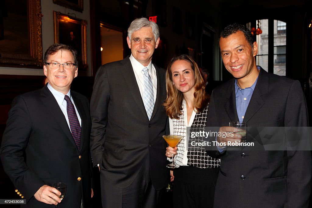
[{"label": "right-hand jacket lapel of the man in blue open-collar shirt", "polygon": [[269,83],[269,75],[265,70],[261,68],[255,90],[252,93],[250,102],[248,104],[248,107],[244,116],[244,120],[243,120],[244,122],[248,123],[248,121],[252,118],[252,116],[265,103],[261,96],[269,92],[268,83]]}]

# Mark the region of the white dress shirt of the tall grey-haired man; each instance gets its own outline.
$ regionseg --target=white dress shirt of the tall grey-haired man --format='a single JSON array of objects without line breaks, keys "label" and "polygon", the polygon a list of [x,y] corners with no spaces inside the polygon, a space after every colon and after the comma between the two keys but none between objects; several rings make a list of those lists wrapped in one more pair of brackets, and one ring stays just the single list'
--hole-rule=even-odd
[{"label": "white dress shirt of the tall grey-haired man", "polygon": [[[143,66],[139,61],[137,61],[131,54],[129,57],[133,71],[134,71],[134,76],[135,79],[137,80],[140,93],[142,96],[142,99],[144,99],[144,73],[142,72]],[[155,66],[152,64],[152,61],[149,62],[149,65],[146,66],[149,69],[149,75],[152,80],[152,85],[153,85],[153,94],[154,94],[154,103],[156,101],[156,93],[157,93],[157,75],[156,75],[156,69]]]}]

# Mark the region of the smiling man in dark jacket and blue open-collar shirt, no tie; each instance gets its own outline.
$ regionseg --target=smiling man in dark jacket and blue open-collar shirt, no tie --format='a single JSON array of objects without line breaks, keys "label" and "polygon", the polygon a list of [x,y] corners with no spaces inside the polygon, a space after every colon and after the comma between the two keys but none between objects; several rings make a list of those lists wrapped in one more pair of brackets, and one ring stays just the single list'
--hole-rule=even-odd
[{"label": "smiling man in dark jacket and blue open-collar shirt, no tie", "polygon": [[[215,88],[209,104],[211,126],[233,132],[229,122],[248,127],[307,127],[307,107],[299,81],[257,67],[258,45],[251,31],[238,24],[226,27],[219,41],[225,68],[233,79]],[[237,130],[236,130],[237,131]],[[240,142],[237,133],[218,142]],[[256,141],[254,141],[256,142]],[[308,207],[310,151],[237,151],[219,148],[221,169],[215,207]]]}]

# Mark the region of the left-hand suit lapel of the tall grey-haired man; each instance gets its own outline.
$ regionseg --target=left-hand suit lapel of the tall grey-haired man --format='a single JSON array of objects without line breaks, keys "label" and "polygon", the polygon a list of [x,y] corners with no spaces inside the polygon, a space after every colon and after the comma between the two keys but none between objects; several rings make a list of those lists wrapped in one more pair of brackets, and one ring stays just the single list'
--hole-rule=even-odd
[{"label": "left-hand suit lapel of the tall grey-haired man", "polygon": [[137,80],[135,78],[129,56],[121,60],[121,64],[123,64],[123,66],[121,67],[120,71],[122,75],[124,76],[124,80],[128,85],[128,89],[130,93],[132,94],[134,101],[137,103],[136,107],[139,108],[141,112],[144,112],[143,114],[146,117],[146,119],[149,119],[147,116],[145,107],[144,107],[144,103],[143,103],[143,99],[140,93],[139,86],[137,85]]}]

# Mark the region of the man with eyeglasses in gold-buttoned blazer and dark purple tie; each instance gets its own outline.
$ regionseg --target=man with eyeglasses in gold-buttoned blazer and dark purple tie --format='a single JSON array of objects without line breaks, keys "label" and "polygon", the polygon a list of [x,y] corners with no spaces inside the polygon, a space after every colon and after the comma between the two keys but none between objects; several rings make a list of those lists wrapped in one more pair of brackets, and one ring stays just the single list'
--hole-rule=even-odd
[{"label": "man with eyeglasses in gold-buttoned blazer and dark purple tie", "polygon": [[[0,156],[25,207],[90,207],[90,130],[88,99],[70,90],[78,74],[77,52],[53,44],[43,60],[48,83],[17,96],[9,111]],[[65,197],[52,187],[62,182]]]}]

